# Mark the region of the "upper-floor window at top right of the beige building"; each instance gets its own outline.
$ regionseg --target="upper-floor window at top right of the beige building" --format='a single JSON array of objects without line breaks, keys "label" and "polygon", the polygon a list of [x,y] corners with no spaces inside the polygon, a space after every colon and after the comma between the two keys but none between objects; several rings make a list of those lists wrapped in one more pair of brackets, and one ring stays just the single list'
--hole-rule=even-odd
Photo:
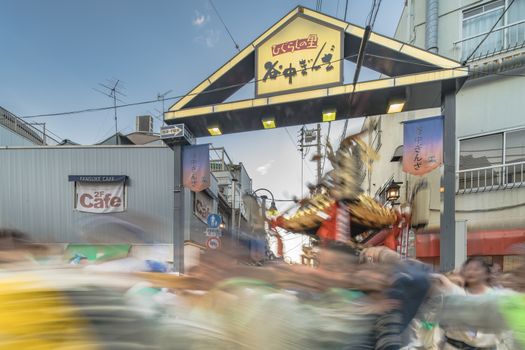
[{"label": "upper-floor window at top right of the beige building", "polygon": [[[466,59],[492,29],[512,0],[498,0],[463,12],[462,59]],[[475,56],[525,44],[525,0],[514,0]]]}]

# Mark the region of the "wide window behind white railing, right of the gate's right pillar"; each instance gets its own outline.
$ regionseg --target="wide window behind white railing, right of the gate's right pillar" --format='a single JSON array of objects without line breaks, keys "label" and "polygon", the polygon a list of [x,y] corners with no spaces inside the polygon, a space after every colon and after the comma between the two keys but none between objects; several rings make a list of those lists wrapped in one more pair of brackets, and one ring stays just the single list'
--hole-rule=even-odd
[{"label": "wide window behind white railing, right of the gate's right pillar", "polygon": [[525,129],[459,141],[459,190],[525,182]]}]

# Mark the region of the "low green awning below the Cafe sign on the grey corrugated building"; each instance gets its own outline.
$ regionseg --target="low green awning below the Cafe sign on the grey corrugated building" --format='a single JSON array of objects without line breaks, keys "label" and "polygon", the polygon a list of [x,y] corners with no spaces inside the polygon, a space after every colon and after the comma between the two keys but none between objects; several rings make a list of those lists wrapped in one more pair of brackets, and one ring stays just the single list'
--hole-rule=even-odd
[{"label": "low green awning below the Cafe sign on the grey corrugated building", "polygon": [[70,260],[75,255],[85,256],[90,261],[120,259],[128,256],[131,249],[130,244],[68,244],[64,257]]}]

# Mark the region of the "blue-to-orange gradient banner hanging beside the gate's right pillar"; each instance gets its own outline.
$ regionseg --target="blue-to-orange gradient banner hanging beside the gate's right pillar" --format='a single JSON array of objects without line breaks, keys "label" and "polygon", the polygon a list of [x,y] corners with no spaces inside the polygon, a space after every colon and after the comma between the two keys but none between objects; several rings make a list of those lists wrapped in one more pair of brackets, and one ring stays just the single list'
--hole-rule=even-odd
[{"label": "blue-to-orange gradient banner hanging beside the gate's right pillar", "polygon": [[443,116],[403,125],[403,171],[424,175],[443,164]]}]

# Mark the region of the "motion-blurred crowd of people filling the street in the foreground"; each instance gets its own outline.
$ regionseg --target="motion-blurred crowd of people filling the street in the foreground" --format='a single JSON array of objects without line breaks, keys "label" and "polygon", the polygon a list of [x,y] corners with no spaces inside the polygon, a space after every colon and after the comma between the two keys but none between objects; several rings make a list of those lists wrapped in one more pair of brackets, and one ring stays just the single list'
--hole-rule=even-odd
[{"label": "motion-blurred crowd of people filling the street in the foreground", "polygon": [[130,257],[53,260],[0,230],[0,348],[525,349],[525,267],[472,257],[437,274],[344,244],[323,246],[318,268],[249,266],[245,250],[225,240],[178,276]]}]

